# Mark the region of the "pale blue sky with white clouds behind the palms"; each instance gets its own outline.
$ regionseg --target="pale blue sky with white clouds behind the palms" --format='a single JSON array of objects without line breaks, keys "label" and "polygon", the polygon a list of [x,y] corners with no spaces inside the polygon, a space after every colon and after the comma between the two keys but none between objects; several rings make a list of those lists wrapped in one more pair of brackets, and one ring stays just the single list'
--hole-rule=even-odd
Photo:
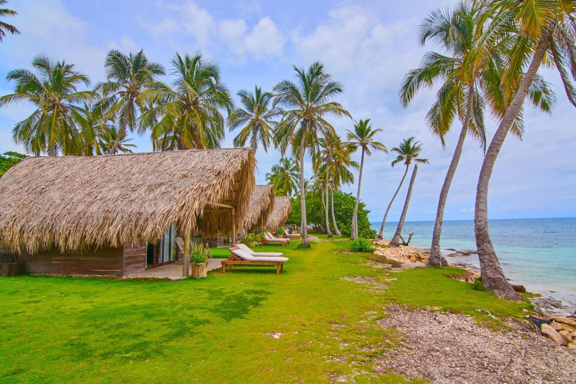
[{"label": "pale blue sky with white clouds behind the palms", "polygon": [[[111,48],[124,52],[143,48],[147,58],[167,69],[175,52],[201,51],[221,66],[221,79],[236,101],[240,89],[252,91],[258,85],[271,90],[277,82],[293,78],[293,65],[306,67],[319,60],[334,80],[344,85],[337,101],[354,120],[370,118],[374,128],[384,130],[377,140],[388,149],[410,136],[422,142],[421,155],[430,164],[418,168],[406,220],[434,220],[460,126],[454,124],[443,149],[425,122],[437,87],[419,93],[407,108],[400,106],[398,90],[404,74],[418,66],[425,51],[438,51],[433,45],[419,46],[420,21],[434,8],[451,3],[9,0],[9,8],[18,16],[5,21],[16,25],[22,35],[8,35],[0,43],[0,95],[13,90],[13,84],[3,80],[7,71],[30,68],[32,58],[40,53],[74,63],[94,84],[104,80],[104,58]],[[540,73],[552,83],[558,104],[551,115],[525,106],[524,137],[521,141],[506,138],[490,181],[490,219],[576,216],[576,110],[567,100],[558,74],[554,70]],[[32,110],[26,104],[0,108],[0,153],[23,152],[12,140],[12,128]],[[330,122],[342,137],[354,125],[348,118],[331,118]],[[496,128],[497,122],[488,117],[488,133]],[[223,148],[232,146],[235,134],[227,130]],[[148,137],[135,133],[130,137],[138,151],[151,150]],[[266,183],[265,175],[279,157],[273,149],[257,151],[257,183]],[[359,157],[359,152],[354,155],[355,160]],[[361,199],[371,211],[370,221],[382,220],[403,175],[403,166],[391,167],[394,157],[392,153],[373,153],[365,160]],[[482,159],[478,143],[468,138],[448,196],[445,220],[473,219]],[[310,174],[308,161],[305,175]],[[407,184],[388,220],[399,218]],[[355,194],[357,185],[343,190]]]}]

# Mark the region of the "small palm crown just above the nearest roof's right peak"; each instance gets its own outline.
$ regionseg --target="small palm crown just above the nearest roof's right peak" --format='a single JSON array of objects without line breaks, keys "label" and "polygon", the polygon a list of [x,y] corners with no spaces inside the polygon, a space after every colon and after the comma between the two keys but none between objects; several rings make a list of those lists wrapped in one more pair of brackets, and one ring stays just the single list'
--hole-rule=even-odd
[{"label": "small palm crown just above the nearest roof's right peak", "polygon": [[274,138],[272,126],[277,123],[274,119],[282,115],[281,108],[275,106],[274,94],[262,92],[262,88],[255,86],[254,93],[241,89],[237,95],[245,109],[237,107],[228,117],[228,126],[230,131],[242,125],[244,127],[234,137],[234,146],[244,146],[249,137],[254,152],[258,149],[258,143],[267,151]]}]

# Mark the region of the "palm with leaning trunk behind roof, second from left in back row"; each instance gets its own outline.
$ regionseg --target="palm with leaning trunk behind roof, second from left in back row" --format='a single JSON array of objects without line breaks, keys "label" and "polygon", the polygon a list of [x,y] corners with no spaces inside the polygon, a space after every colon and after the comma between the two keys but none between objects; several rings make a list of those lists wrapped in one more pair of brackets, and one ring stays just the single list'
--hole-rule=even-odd
[{"label": "palm with leaning trunk behind roof, second from left in back row", "polygon": [[110,50],[104,67],[107,81],[96,84],[94,91],[102,95],[96,108],[105,112],[105,121],[118,120],[119,134],[110,149],[110,154],[114,155],[127,129],[137,129],[138,112],[143,107],[143,91],[165,73],[161,64],[148,61],[143,50],[128,55]]}]

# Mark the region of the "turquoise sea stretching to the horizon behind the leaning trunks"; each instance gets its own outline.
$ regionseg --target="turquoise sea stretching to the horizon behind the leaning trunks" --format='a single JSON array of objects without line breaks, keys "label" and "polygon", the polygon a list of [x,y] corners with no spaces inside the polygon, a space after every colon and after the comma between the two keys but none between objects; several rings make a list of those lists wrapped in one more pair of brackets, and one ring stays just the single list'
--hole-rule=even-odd
[{"label": "turquoise sea stretching to the horizon behind the leaning trunks", "polygon": [[[380,230],[380,224],[372,222]],[[384,238],[390,239],[398,223],[387,221]],[[490,237],[502,269],[513,284],[530,292],[576,302],[576,217],[554,219],[489,220]],[[407,221],[404,229],[415,232],[410,246],[430,249],[434,221]],[[407,235],[403,232],[407,239]],[[473,220],[449,220],[442,226],[444,255],[476,250]],[[478,255],[446,256],[448,263],[464,262],[480,268]],[[554,292],[551,292],[554,291]]]}]

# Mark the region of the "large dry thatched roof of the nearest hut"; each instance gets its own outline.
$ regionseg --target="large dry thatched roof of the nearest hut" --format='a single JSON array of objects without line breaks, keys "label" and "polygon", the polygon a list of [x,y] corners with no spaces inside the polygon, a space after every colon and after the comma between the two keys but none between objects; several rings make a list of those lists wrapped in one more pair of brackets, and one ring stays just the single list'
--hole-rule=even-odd
[{"label": "large dry thatched roof of the nearest hut", "polygon": [[228,233],[230,210],[204,208],[236,206],[241,228],[255,164],[247,148],[29,157],[0,178],[0,246],[152,242],[173,220],[180,231]]}]

